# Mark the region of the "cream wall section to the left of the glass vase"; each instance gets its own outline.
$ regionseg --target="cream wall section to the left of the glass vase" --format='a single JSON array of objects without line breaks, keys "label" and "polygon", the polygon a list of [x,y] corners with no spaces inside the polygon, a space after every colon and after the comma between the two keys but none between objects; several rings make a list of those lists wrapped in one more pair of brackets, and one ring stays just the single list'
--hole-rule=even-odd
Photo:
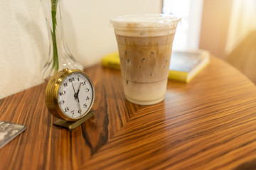
[{"label": "cream wall section to the left of the glass vase", "polygon": [[0,1],[0,98],[43,82],[46,31],[40,1]]}]

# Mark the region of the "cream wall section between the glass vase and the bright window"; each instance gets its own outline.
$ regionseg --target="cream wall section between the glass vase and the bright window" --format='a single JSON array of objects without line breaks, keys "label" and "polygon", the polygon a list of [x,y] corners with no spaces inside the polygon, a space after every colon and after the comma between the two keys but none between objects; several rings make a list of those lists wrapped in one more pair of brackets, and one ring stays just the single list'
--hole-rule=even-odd
[{"label": "cream wall section between the glass vase and the bright window", "polygon": [[127,13],[161,13],[161,0],[73,2],[63,0],[66,40],[73,55],[79,57],[79,61],[85,66],[100,61],[102,55],[117,50],[110,18]]}]

